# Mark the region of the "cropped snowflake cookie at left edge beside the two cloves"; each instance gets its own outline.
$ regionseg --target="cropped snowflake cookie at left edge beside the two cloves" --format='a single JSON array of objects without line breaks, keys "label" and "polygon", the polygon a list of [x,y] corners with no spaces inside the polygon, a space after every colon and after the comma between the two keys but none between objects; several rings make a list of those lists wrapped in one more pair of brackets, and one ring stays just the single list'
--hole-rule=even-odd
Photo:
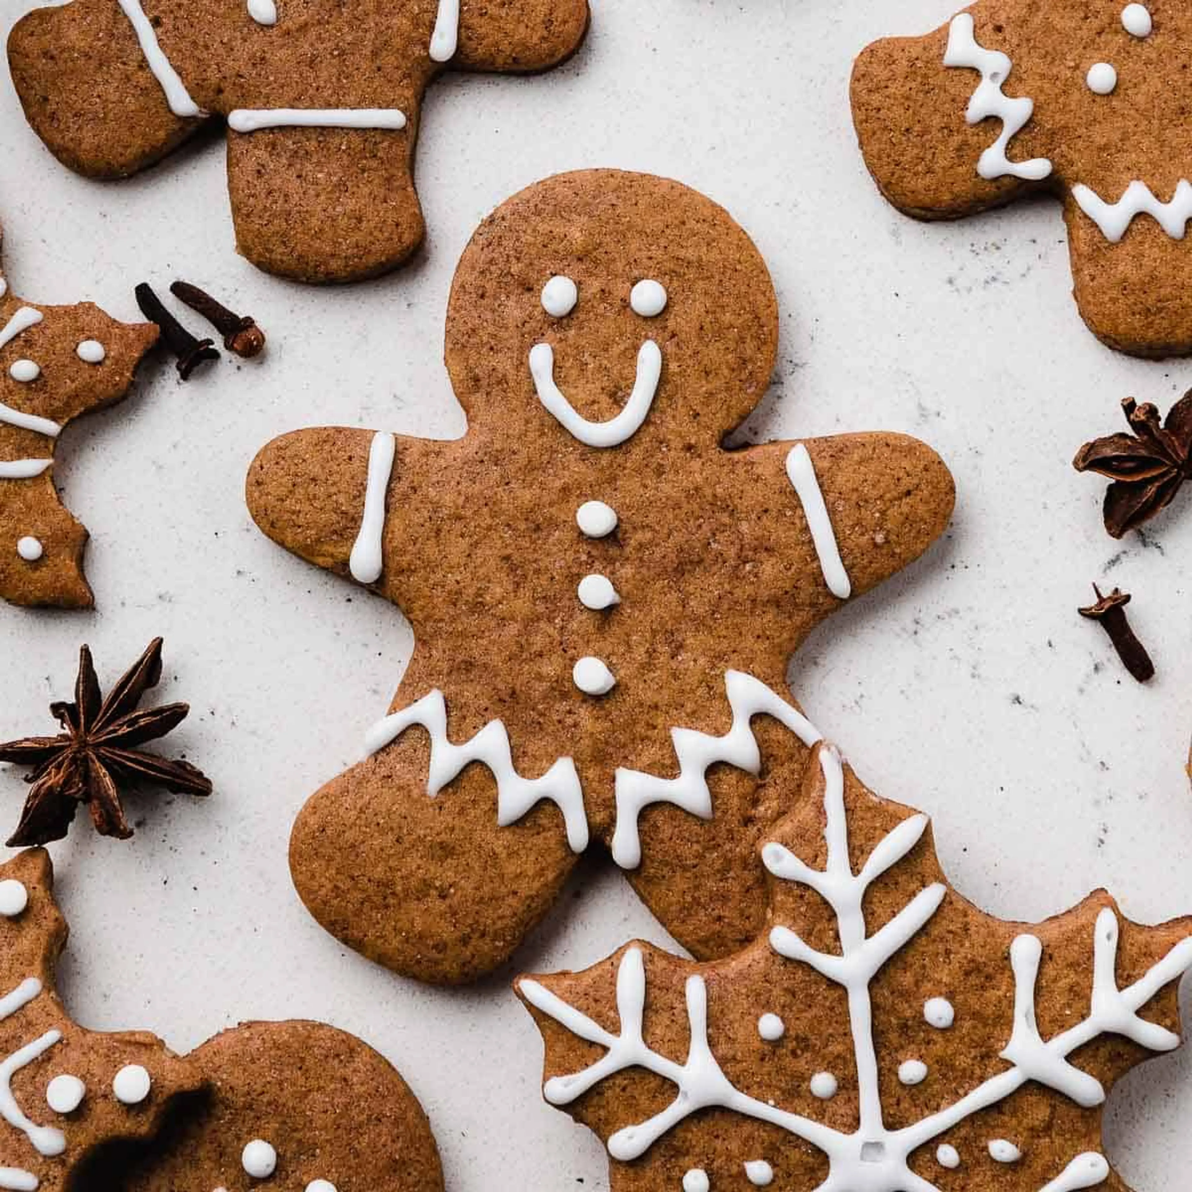
[{"label": "cropped snowflake cookie at left edge beside the two cloves", "polygon": [[[0,243],[2,247],[2,243]],[[124,397],[157,341],[153,325],[117,323],[92,303],[32,306],[0,271],[0,597],[91,608],[87,530],[54,488],[62,428]]]}]

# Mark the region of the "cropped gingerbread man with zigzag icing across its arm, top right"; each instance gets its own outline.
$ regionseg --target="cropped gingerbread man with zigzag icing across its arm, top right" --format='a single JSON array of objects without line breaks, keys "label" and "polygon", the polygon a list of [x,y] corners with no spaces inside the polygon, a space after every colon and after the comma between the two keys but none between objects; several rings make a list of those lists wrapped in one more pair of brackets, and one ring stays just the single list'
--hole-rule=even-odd
[{"label": "cropped gingerbread man with zigzag icing across its arm, top right", "polygon": [[920,219],[1060,197],[1089,330],[1134,355],[1192,352],[1190,46],[1192,12],[1169,0],[982,0],[857,58],[865,163]]}]

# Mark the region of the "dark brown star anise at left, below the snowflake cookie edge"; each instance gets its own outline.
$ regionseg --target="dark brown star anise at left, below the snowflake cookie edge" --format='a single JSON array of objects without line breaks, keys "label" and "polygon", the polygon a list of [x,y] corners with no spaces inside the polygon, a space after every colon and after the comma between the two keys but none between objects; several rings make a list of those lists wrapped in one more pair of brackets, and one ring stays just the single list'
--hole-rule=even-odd
[{"label": "dark brown star anise at left, below the snowflake cookie edge", "polygon": [[137,704],[161,678],[162,639],[155,638],[105,700],[91,660],[79,651],[74,703],[51,703],[62,725],[57,737],[26,737],[0,745],[0,762],[32,765],[32,789],[8,846],[48,844],[67,834],[79,803],[87,803],[100,836],[132,836],[120,806],[120,787],[153,782],[187,795],[210,795],[211,782],[188,762],[143,752],[145,741],[164,737],[186,719],[187,703],[167,703],[137,712]]}]

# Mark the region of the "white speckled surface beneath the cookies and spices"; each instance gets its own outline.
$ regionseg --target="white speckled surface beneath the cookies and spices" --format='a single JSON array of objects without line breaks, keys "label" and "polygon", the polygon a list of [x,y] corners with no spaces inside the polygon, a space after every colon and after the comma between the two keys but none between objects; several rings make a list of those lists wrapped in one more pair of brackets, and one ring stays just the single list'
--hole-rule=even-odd
[{"label": "white speckled surface beneath the cookies and spices", "polygon": [[[29,7],[0,0],[5,30]],[[453,1192],[607,1187],[597,1142],[541,1103],[540,1043],[504,977],[418,988],[325,936],[286,869],[290,822],[358,755],[410,635],[387,606],[286,555],[241,497],[255,449],[322,423],[451,437],[440,364],[455,260],[523,185],[608,164],[670,174],[753,235],[782,304],[758,436],[906,430],[948,460],[946,541],[828,622],[795,659],[807,712],[877,790],[929,811],[960,889],[1039,918],[1104,884],[1134,917],[1192,909],[1192,493],[1144,539],[1100,526],[1100,484],[1069,460],[1119,429],[1128,393],[1166,408],[1192,364],[1115,356],[1069,298],[1049,203],[919,225],[882,203],[852,137],[853,54],[921,32],[950,0],[594,0],[586,48],[534,80],[452,77],[420,155],[430,229],[412,268],[308,290],[236,256],[218,143],[120,185],[58,167],[0,83],[7,274],[41,302],[93,298],[132,318],[132,285],[185,275],[256,315],[272,349],[188,386],[150,367],[122,408],[64,436],[58,479],[93,534],[95,615],[0,607],[0,739],[50,731],[88,640],[105,682],[155,634],[172,738],[216,782],[206,803],[147,795],[131,844],[80,822],[54,849],[74,926],[74,1013],[178,1048],[252,1017],[310,1016],[396,1061],[429,1110]],[[1140,688],[1081,621],[1093,579],[1135,594],[1157,678]],[[15,821],[23,786],[0,774]],[[584,966],[659,929],[594,864],[522,963]],[[1113,1097],[1110,1154],[1138,1192],[1186,1184],[1192,1058],[1155,1061]],[[237,1190],[232,1190],[237,1192]]]}]

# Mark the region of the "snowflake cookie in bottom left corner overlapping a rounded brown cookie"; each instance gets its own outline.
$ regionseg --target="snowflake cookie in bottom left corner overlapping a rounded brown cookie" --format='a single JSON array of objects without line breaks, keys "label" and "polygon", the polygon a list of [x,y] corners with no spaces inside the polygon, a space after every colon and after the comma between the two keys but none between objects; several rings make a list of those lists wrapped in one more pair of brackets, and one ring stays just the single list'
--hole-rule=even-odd
[{"label": "snowflake cookie in bottom left corner overlapping a rounded brown cookie", "polygon": [[[145,1031],[86,1031],[54,968],[67,926],[41,849],[0,867],[0,1188],[60,1192],[101,1144],[151,1137],[203,1075]],[[210,1192],[210,1190],[209,1190]]]}]

